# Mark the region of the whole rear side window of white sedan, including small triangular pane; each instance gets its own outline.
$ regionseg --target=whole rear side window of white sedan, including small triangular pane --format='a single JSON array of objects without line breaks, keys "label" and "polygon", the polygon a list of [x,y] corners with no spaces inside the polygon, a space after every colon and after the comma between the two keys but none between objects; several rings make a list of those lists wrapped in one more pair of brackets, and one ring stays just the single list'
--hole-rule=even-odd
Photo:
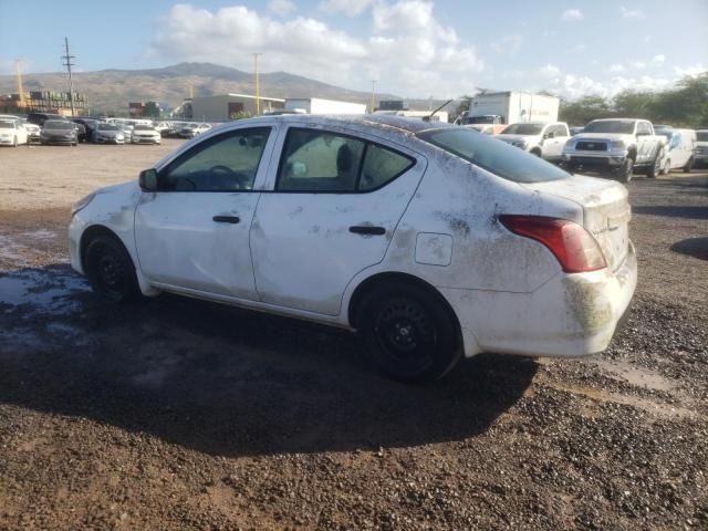
[{"label": "whole rear side window of white sedan, including small triangular pane", "polygon": [[408,170],[415,160],[362,138],[291,128],[278,170],[278,191],[371,191]]}]

